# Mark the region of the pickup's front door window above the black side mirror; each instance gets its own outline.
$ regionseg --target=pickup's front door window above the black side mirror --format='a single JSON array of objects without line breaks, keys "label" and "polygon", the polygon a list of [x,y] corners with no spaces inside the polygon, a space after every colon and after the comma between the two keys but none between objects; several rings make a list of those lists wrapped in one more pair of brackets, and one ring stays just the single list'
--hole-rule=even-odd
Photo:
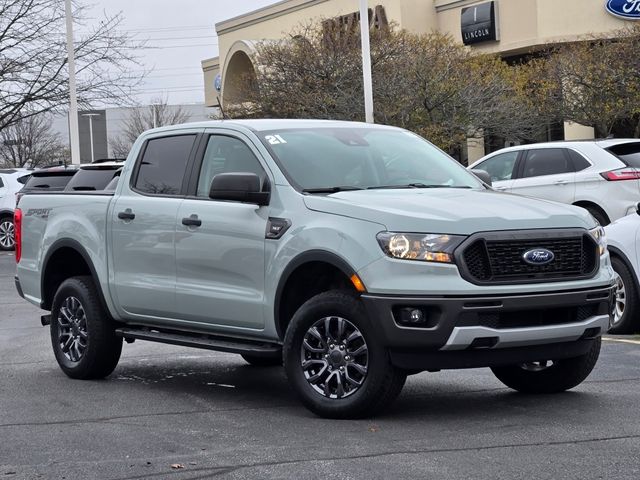
[{"label": "pickup's front door window above the black side mirror", "polygon": [[261,184],[266,178],[260,162],[246,143],[235,137],[211,135],[200,167],[196,195],[209,198],[213,177],[231,172],[255,173]]}]

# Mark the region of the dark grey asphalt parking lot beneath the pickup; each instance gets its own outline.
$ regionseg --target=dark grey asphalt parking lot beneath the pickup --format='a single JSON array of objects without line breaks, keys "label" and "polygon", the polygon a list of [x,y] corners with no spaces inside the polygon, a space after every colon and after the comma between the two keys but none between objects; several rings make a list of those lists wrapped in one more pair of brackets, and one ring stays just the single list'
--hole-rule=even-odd
[{"label": "dark grey asphalt parking lot beneath the pickup", "polygon": [[1,255],[0,479],[640,478],[637,337],[565,394],[423,373],[384,416],[329,421],[231,354],[136,342],[108,379],[70,380],[13,274]]}]

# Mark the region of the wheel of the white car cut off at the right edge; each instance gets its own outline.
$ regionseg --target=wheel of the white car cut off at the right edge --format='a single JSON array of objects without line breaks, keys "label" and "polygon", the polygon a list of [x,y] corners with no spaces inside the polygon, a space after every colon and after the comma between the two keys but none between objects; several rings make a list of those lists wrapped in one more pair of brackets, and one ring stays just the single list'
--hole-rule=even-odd
[{"label": "wheel of the white car cut off at the right edge", "polygon": [[633,275],[618,257],[611,257],[611,266],[616,274],[616,298],[613,310],[613,325],[610,333],[633,333],[638,318],[638,295]]}]

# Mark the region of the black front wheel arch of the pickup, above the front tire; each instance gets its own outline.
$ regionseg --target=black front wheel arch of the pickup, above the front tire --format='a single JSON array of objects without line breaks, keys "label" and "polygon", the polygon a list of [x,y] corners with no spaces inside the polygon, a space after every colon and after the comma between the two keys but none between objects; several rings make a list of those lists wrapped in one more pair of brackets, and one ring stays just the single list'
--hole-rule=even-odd
[{"label": "black front wheel arch of the pickup, above the front tire", "polygon": [[[309,278],[313,273],[324,274],[314,278],[312,288],[299,292],[298,280]],[[278,338],[284,338],[293,313],[309,298],[326,291],[337,283],[338,287],[354,289],[351,277],[355,269],[339,255],[326,250],[310,250],[294,257],[284,268],[278,281],[274,301],[274,321]]]}]

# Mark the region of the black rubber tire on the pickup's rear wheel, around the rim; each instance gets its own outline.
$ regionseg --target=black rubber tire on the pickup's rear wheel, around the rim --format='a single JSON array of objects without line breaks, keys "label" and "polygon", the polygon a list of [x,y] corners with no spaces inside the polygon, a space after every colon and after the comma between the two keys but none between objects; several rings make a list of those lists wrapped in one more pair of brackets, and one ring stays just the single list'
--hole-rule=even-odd
[{"label": "black rubber tire on the pickup's rear wheel, around the rim", "polygon": [[[59,320],[62,315],[60,310],[69,298],[79,301],[86,317],[86,321],[83,322],[86,346],[77,361],[68,358],[60,345],[60,338],[65,328]],[[66,322],[64,316],[62,318],[62,321]],[[116,336],[114,322],[102,308],[91,277],[68,278],[58,288],[51,307],[51,344],[58,365],[71,378],[81,380],[104,378],[116,368],[122,351],[122,338]]]}]

